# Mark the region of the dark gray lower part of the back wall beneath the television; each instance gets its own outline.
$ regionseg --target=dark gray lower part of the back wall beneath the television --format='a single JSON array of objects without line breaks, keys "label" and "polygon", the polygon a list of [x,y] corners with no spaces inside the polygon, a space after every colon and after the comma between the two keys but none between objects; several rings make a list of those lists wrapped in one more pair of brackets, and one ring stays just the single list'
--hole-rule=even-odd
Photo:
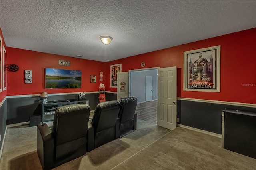
[{"label": "dark gray lower part of the back wall beneath the television", "polygon": [[[7,98],[6,124],[28,122],[30,116],[40,115],[41,114],[40,99],[41,98],[39,96]],[[47,99],[48,99],[48,102],[51,102],[53,100],[73,100],[73,99],[78,100],[78,94],[54,95],[54,96],[49,96]],[[94,110],[97,104],[99,103],[99,93],[97,92],[88,93],[86,94],[86,99],[89,100],[90,109]],[[1,110],[1,115],[2,115],[2,110]],[[2,127],[2,124],[1,124],[1,127]]]}]

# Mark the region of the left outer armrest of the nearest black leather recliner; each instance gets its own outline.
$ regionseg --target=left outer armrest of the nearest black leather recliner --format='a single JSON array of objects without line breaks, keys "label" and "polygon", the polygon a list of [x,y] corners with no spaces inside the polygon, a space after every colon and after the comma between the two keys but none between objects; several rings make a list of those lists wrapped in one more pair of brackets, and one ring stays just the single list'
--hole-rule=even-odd
[{"label": "left outer armrest of the nearest black leather recliner", "polygon": [[37,125],[36,147],[43,170],[54,168],[54,139],[47,124]]}]

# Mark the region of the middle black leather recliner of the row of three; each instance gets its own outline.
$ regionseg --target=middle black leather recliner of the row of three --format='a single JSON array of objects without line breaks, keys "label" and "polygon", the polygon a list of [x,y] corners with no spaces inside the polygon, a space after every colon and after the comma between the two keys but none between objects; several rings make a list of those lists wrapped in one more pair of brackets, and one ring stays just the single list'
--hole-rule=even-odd
[{"label": "middle black leather recliner of the row of three", "polygon": [[120,102],[116,100],[101,102],[96,106],[88,124],[88,152],[115,139],[119,109]]}]

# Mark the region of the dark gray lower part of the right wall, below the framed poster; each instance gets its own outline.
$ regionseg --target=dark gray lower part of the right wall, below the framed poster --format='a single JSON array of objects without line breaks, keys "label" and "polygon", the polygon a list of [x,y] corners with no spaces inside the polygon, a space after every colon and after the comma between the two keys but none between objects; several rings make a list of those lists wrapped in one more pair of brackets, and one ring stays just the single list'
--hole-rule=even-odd
[{"label": "dark gray lower part of the right wall, below the framed poster", "polygon": [[225,108],[251,112],[256,111],[256,108],[242,106],[179,100],[177,102],[178,123],[221,134],[222,110]]}]

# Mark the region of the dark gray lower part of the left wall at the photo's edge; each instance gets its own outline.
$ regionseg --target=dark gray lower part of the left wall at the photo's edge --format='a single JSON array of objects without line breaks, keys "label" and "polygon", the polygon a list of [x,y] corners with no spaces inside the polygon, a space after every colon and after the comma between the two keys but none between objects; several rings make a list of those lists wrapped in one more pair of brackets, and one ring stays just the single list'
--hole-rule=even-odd
[{"label": "dark gray lower part of the left wall at the photo's edge", "polygon": [[6,112],[7,112],[7,102],[5,100],[5,102],[2,104],[2,106],[0,108],[0,118],[1,118],[1,122],[0,122],[0,134],[1,134],[0,148],[2,147],[2,143],[3,143],[3,139],[4,139],[4,132],[5,132],[5,129],[6,129]]}]

